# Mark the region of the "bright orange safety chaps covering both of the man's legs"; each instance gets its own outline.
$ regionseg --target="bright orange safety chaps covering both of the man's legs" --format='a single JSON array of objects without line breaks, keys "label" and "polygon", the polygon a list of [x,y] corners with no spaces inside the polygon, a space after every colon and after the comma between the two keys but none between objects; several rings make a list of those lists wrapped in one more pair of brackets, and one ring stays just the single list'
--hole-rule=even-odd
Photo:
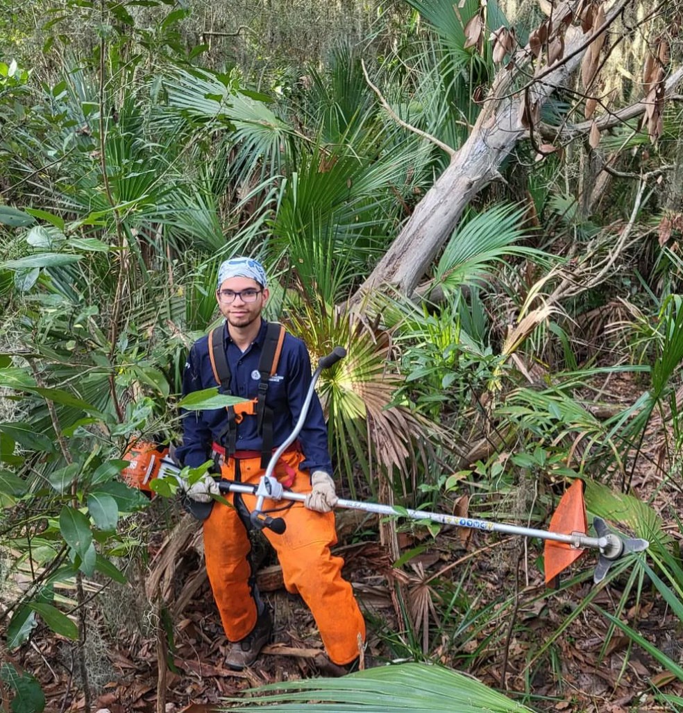
[{"label": "bright orange safety chaps covering both of the man's legs", "polygon": [[[308,493],[310,476],[299,470],[301,461],[303,455],[299,451],[283,453],[273,474],[281,482],[291,481],[293,475],[290,490]],[[263,472],[260,457],[238,461],[229,458],[222,466],[223,478],[248,484],[258,483]],[[232,642],[251,632],[263,605],[256,589],[251,541],[243,520],[248,518],[245,507],[251,512],[256,497],[246,493],[229,493],[225,497],[234,507],[215,503],[211,515],[204,520],[203,534],[206,572],[223,629]],[[290,503],[291,507],[286,507]],[[337,543],[334,513],[316,513],[293,501],[263,502],[264,511],[272,508],[284,508],[273,517],[283,518],[287,528],[282,535],[268,529],[263,533],[278,554],[285,588],[300,594],[308,605],[330,660],[340,666],[348,664],[360,653],[359,644],[365,642],[365,621],[351,585],[341,576],[344,560],[330,553]]]}]

